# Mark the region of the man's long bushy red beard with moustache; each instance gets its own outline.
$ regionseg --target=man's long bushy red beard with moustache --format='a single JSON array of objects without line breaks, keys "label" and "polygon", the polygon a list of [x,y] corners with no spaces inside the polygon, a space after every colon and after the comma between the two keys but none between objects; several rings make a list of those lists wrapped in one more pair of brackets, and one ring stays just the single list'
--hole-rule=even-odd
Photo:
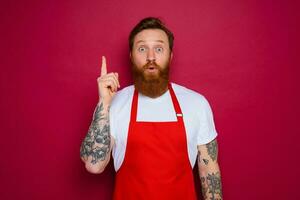
[{"label": "man's long bushy red beard with moustache", "polygon": [[[145,96],[156,98],[168,90],[169,83],[169,62],[161,67],[155,61],[147,62],[142,68],[138,68],[133,61],[132,76],[137,91]],[[146,70],[156,69],[156,73],[147,73]]]}]

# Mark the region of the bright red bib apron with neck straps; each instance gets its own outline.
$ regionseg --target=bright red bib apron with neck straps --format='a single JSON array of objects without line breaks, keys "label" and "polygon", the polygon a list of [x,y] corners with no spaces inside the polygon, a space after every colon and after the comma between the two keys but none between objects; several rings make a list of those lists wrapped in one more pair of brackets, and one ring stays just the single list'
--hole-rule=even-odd
[{"label": "bright red bib apron with neck straps", "polygon": [[169,91],[177,113],[177,121],[171,122],[137,122],[138,92],[134,91],[114,200],[196,199],[183,117],[171,85]]}]

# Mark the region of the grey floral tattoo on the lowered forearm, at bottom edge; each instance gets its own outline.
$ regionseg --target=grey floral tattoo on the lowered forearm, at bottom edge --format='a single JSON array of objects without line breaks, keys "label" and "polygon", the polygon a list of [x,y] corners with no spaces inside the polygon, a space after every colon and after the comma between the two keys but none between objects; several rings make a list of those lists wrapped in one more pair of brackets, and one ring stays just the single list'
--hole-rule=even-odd
[{"label": "grey floral tattoo on the lowered forearm, at bottom edge", "polygon": [[210,200],[223,199],[220,172],[208,174],[206,177],[200,177],[200,179],[204,199],[207,199],[208,195]]}]

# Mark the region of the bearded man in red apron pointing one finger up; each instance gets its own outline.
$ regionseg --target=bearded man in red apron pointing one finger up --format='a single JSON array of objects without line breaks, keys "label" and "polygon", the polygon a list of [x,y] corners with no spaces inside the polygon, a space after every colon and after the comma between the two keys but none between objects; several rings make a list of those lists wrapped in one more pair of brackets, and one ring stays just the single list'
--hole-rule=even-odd
[{"label": "bearded man in red apron pointing one finger up", "polygon": [[216,130],[204,96],[169,82],[173,34],[145,18],[129,36],[134,86],[121,91],[102,57],[99,103],[81,146],[91,173],[114,158],[114,199],[196,199],[193,166],[204,199],[222,199]]}]

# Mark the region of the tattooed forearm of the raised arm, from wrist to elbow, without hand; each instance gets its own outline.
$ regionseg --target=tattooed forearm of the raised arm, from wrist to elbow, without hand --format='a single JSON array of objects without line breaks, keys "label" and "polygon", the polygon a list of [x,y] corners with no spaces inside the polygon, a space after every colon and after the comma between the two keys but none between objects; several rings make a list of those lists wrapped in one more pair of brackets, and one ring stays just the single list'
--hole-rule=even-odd
[{"label": "tattooed forearm of the raised arm, from wrist to elbow, without hand", "polygon": [[100,100],[81,144],[80,157],[90,172],[101,173],[109,161],[110,150],[109,104]]}]

